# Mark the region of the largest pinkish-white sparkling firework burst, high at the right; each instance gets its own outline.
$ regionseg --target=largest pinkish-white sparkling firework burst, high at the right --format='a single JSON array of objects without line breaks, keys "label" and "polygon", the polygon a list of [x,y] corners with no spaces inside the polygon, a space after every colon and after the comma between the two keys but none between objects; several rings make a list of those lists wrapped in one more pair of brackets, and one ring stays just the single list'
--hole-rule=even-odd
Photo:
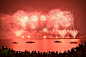
[{"label": "largest pinkish-white sparkling firework burst, high at the right", "polygon": [[[70,11],[61,11],[59,9],[53,9],[49,11],[49,24],[54,26],[54,28],[63,29],[70,27],[74,24],[74,17]],[[58,24],[58,25],[57,25]]]}]

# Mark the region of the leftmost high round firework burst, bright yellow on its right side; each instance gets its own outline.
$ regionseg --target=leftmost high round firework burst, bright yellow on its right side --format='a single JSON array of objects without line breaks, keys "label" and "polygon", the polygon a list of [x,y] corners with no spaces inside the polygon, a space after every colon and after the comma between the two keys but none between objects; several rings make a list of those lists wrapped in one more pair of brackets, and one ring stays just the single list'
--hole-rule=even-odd
[{"label": "leftmost high round firework burst, bright yellow on its right side", "polygon": [[17,13],[15,13],[13,15],[13,20],[16,23],[17,26],[21,26],[22,28],[26,29],[26,22],[28,21],[28,16],[27,13],[24,12],[23,10],[19,10],[17,11]]}]

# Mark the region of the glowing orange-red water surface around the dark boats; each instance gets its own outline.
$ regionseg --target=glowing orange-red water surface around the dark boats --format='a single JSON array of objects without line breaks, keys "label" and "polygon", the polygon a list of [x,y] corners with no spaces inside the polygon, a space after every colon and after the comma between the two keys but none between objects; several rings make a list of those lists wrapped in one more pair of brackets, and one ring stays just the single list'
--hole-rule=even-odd
[{"label": "glowing orange-red water surface around the dark boats", "polygon": [[[55,43],[54,41],[61,41],[61,43]],[[34,41],[35,43],[26,43],[27,41]],[[70,42],[78,42],[76,44],[70,44]],[[18,44],[12,44],[12,42],[18,42]],[[65,51],[70,50],[72,47],[78,46],[85,42],[85,39],[0,39],[0,48],[2,46],[12,48],[15,50],[36,50],[41,52],[47,51]]]}]

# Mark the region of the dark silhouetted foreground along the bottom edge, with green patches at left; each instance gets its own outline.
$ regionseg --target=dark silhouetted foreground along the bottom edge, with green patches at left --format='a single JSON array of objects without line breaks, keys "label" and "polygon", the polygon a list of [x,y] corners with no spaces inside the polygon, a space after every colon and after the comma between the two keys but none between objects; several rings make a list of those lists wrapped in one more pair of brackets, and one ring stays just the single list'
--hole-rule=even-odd
[{"label": "dark silhouetted foreground along the bottom edge, with green patches at left", "polygon": [[63,53],[58,51],[36,52],[35,50],[32,52],[27,50],[25,50],[25,52],[21,52],[2,46],[2,49],[0,49],[0,57],[86,57],[86,42],[79,44],[76,48],[64,51]]}]

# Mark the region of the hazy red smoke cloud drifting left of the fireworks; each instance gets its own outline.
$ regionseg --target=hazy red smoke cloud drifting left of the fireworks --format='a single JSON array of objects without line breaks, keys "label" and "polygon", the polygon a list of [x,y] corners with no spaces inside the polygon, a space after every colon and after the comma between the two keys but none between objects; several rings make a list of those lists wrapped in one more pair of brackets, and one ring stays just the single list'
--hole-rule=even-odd
[{"label": "hazy red smoke cloud drifting left of the fireworks", "polygon": [[0,38],[13,38],[16,24],[12,21],[11,15],[0,12]]}]

